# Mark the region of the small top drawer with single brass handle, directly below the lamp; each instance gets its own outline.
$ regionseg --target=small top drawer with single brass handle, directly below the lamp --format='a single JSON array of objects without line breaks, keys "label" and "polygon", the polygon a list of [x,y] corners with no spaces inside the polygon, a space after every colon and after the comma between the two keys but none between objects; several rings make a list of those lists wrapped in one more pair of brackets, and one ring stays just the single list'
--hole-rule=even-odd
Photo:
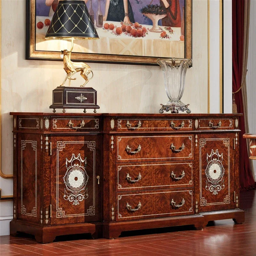
[{"label": "small top drawer with single brass handle, directly below the lamp", "polygon": [[92,132],[100,131],[99,118],[95,117],[52,117],[52,132]]}]

